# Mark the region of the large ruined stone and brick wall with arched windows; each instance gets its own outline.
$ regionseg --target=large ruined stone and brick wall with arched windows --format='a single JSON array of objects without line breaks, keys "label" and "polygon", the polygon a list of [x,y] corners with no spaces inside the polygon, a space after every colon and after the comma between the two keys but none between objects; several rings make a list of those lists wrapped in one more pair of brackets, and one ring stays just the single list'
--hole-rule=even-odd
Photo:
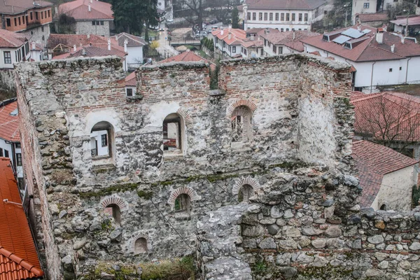
[{"label": "large ruined stone and brick wall with arched windows", "polygon": [[[334,174],[351,166],[344,130],[353,121],[351,77],[335,62],[301,55],[226,61],[218,91],[209,90],[201,62],[144,66],[136,98],[125,97],[115,57],[25,63],[16,71],[27,183],[38,196],[38,244],[50,279],[80,277],[104,260],[193,253],[200,216],[237,204],[244,183],[257,190],[281,182],[279,169],[295,162],[321,163]],[[253,141],[232,148],[230,113],[238,105],[253,110]],[[162,153],[170,113],[186,123],[182,156]],[[99,165],[90,130],[100,121],[113,126],[115,144],[111,162]],[[191,216],[174,213],[174,190],[190,195]],[[104,214],[109,201],[120,206],[121,227]],[[138,237],[147,239],[148,253],[134,255]]]}]

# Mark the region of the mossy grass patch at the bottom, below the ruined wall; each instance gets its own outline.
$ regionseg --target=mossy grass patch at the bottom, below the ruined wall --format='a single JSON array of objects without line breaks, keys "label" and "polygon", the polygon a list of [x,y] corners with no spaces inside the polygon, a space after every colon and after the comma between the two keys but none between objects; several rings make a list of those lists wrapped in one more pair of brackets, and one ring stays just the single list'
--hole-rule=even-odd
[{"label": "mossy grass patch at the bottom, below the ruined wall", "polygon": [[139,265],[143,269],[142,280],[194,280],[197,269],[192,256],[181,259],[145,262]]}]

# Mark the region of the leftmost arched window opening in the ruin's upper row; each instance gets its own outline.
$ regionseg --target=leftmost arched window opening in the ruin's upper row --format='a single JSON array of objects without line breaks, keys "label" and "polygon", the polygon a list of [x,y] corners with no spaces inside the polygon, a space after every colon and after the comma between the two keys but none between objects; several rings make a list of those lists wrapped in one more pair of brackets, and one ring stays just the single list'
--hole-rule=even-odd
[{"label": "leftmost arched window opening in the ruin's upper row", "polygon": [[108,122],[100,122],[90,132],[90,153],[92,158],[111,158],[113,127]]}]

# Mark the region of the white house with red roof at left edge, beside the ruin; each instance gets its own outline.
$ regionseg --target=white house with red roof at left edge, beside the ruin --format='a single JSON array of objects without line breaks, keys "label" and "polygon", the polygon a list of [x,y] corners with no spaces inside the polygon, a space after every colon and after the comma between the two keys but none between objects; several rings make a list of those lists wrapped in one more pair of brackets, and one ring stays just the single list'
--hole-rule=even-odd
[{"label": "white house with red roof at left edge, beside the ruin", "polygon": [[16,98],[0,102],[0,157],[10,158],[18,177],[19,186],[24,188],[19,111]]}]

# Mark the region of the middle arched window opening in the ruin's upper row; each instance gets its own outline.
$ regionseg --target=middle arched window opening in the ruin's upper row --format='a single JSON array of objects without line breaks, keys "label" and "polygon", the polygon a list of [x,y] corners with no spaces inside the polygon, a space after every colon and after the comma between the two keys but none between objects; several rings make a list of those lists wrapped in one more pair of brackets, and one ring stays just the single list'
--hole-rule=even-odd
[{"label": "middle arched window opening in the ruin's upper row", "polygon": [[183,118],[172,113],[163,121],[163,151],[177,153],[185,151],[186,129]]}]

